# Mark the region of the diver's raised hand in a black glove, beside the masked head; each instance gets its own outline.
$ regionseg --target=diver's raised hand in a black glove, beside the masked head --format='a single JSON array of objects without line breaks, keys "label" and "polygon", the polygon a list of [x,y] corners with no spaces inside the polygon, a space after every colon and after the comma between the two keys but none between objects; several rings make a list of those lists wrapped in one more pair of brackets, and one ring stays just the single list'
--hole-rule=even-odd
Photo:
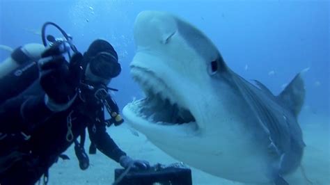
[{"label": "diver's raised hand in a black glove, beside the masked head", "polygon": [[64,111],[77,96],[81,67],[78,66],[82,55],[72,56],[70,64],[61,55],[61,48],[53,46],[47,49],[38,61],[40,85],[45,90],[46,105],[52,111]]}]

